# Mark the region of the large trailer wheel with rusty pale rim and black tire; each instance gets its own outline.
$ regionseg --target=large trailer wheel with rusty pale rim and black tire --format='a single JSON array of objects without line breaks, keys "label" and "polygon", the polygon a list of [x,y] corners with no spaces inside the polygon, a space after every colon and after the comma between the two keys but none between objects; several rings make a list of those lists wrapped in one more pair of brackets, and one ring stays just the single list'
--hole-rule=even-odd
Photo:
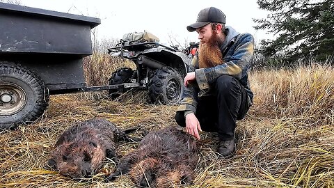
[{"label": "large trailer wheel with rusty pale rim and black tire", "polygon": [[21,65],[0,63],[0,130],[42,116],[49,101],[42,79]]}]

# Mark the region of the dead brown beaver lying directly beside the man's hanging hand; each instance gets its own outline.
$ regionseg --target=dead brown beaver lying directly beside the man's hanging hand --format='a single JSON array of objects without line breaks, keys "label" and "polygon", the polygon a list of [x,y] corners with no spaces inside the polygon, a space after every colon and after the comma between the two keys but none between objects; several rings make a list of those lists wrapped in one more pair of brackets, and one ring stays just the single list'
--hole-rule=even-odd
[{"label": "dead brown beaver lying directly beside the man's hanging hand", "polygon": [[141,187],[189,184],[193,182],[197,162],[196,140],[176,127],[166,127],[148,133],[138,150],[120,159],[116,171],[106,181],[129,173],[132,182]]}]

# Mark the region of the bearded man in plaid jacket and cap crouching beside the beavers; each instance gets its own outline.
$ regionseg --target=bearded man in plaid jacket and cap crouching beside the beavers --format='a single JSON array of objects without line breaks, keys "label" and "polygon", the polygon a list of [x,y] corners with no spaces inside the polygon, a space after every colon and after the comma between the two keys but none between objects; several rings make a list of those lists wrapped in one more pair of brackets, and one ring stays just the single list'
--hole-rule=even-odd
[{"label": "bearded man in plaid jacket and cap crouching beside the beavers", "polygon": [[236,122],[253,104],[248,70],[254,39],[225,27],[225,19],[218,8],[205,8],[196,23],[186,27],[197,31],[200,47],[184,77],[184,95],[175,120],[197,139],[199,131],[218,132],[217,152],[229,158],[235,152]]}]

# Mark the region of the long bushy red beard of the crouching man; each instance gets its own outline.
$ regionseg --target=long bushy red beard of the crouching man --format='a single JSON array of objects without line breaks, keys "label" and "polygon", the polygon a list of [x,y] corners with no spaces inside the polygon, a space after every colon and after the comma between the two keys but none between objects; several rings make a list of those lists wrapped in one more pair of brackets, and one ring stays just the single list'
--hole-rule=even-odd
[{"label": "long bushy red beard of the crouching man", "polygon": [[198,63],[200,68],[212,68],[223,64],[223,54],[219,49],[222,41],[216,33],[205,43],[200,42]]}]

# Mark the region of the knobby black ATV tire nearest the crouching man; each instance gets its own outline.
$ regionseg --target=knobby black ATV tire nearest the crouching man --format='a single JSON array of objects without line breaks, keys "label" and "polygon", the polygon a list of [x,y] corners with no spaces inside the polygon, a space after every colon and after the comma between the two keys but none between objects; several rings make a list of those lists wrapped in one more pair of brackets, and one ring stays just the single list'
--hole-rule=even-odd
[{"label": "knobby black ATV tire nearest the crouching man", "polygon": [[184,91],[183,79],[173,68],[158,69],[150,79],[148,91],[154,104],[177,104],[182,99]]}]

